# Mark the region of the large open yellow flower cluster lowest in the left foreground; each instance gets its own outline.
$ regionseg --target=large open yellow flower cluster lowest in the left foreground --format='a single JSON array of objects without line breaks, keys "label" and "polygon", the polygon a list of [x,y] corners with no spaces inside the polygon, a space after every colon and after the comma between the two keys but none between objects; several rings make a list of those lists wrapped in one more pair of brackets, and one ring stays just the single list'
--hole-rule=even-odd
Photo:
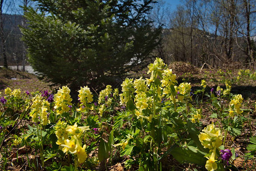
[{"label": "large open yellow flower cluster lowest in the left foreground", "polygon": [[59,121],[56,126],[56,137],[58,141],[56,144],[59,145],[64,153],[70,152],[78,157],[78,162],[81,164],[86,161],[86,144],[83,146],[81,137],[84,131],[89,130],[88,127],[78,127],[77,123],[74,125],[67,125],[62,121]]}]

